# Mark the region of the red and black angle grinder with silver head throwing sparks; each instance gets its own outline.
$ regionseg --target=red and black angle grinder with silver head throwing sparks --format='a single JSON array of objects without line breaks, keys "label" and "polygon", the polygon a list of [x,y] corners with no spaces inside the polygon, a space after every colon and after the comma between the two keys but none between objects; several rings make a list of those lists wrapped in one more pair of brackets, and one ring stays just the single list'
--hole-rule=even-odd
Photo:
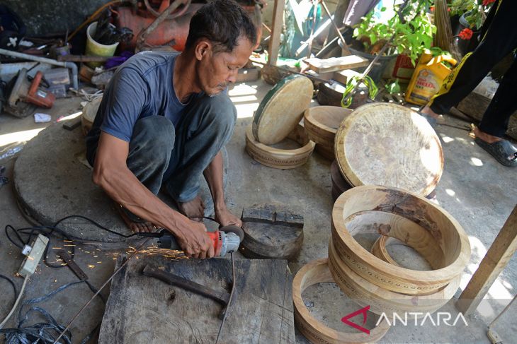
[{"label": "red and black angle grinder with silver head throwing sparks", "polygon": [[[215,232],[207,232],[212,239],[215,251],[220,251],[219,256],[226,256],[229,252],[239,249],[244,239],[244,231],[235,225],[223,226]],[[174,249],[181,251],[181,247],[176,241],[176,237],[168,230],[161,230],[159,233],[139,233],[142,237],[158,237],[158,247],[161,249]]]}]

